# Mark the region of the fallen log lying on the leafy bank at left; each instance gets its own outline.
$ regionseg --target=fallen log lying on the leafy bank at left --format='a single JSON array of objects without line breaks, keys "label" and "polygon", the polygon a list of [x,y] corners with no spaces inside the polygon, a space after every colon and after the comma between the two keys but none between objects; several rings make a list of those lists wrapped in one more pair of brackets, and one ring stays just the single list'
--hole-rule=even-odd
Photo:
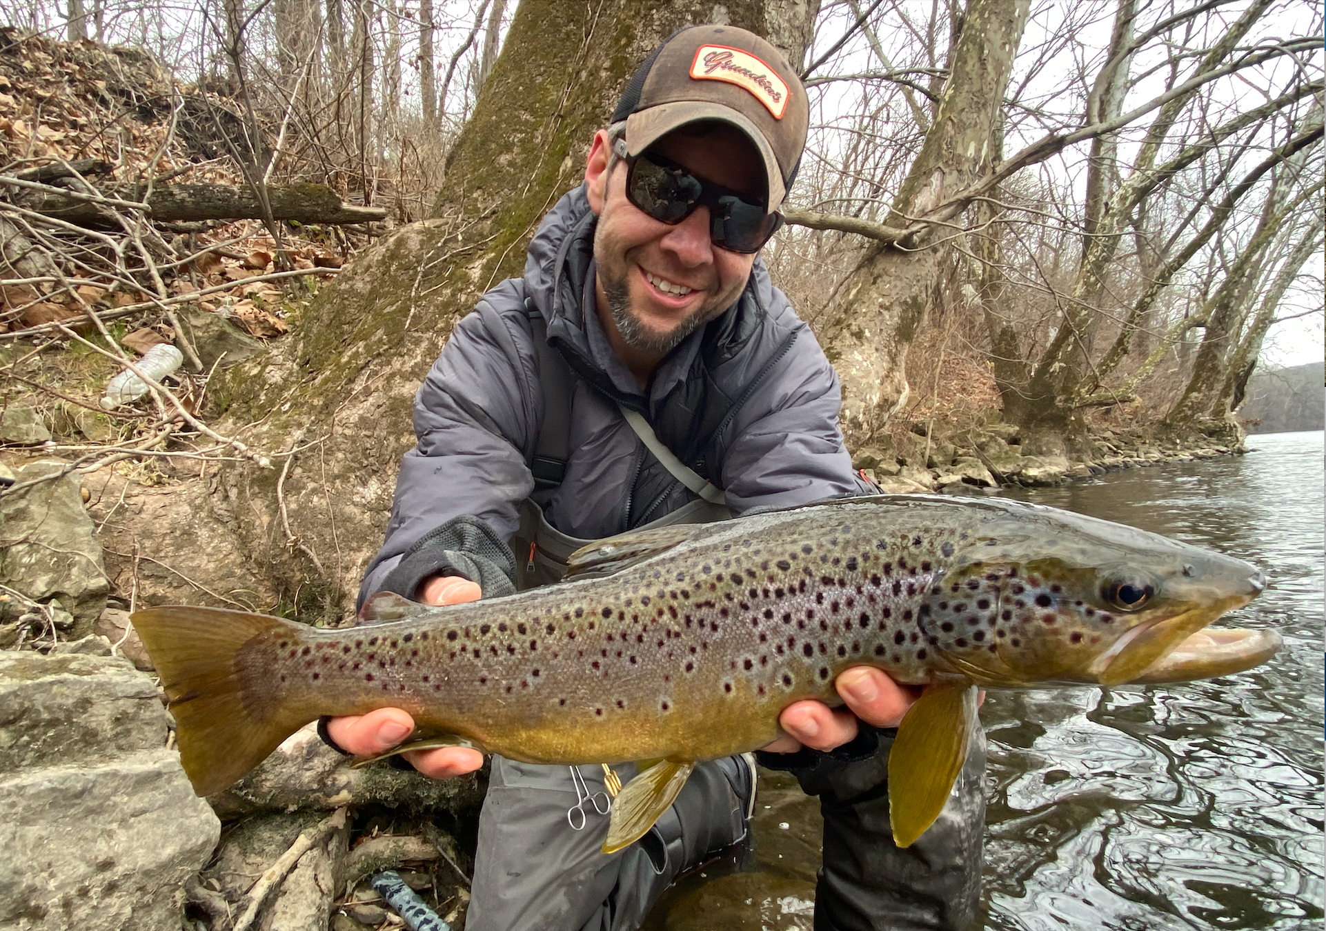
[{"label": "fallen log lying on the leafy bank at left", "polygon": [[[5,178],[0,176],[0,183]],[[16,186],[17,187],[17,186]],[[25,186],[27,187],[27,186]],[[149,215],[163,221],[261,220],[263,208],[248,187],[228,184],[163,184],[147,192],[142,184],[106,188],[107,200],[146,203]],[[146,200],[145,200],[146,196]],[[370,223],[385,220],[383,207],[358,207],[341,203],[326,184],[298,183],[267,188],[273,220],[298,223]],[[115,204],[98,203],[95,195],[57,192],[54,190],[23,192],[25,208],[81,227],[114,227]]]}]

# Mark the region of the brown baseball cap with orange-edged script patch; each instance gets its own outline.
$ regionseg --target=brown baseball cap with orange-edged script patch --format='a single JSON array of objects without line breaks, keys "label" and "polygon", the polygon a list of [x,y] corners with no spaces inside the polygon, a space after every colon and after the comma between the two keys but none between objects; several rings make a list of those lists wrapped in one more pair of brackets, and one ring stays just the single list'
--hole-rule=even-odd
[{"label": "brown baseball cap with orange-edged script patch", "polygon": [[731,123],[749,137],[776,210],[797,175],[810,122],[806,89],[786,56],[737,27],[678,29],[640,62],[613,111],[614,125],[626,121],[631,155],[699,119]]}]

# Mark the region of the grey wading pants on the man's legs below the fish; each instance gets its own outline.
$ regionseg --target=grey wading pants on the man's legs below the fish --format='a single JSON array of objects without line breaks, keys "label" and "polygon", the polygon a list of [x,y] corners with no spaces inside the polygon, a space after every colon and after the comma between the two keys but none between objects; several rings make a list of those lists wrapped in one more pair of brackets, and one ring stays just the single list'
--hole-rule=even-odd
[{"label": "grey wading pants on the man's legs below the fish", "polygon": [[[892,732],[869,736],[837,755],[760,753],[761,763],[789,769],[809,794],[819,797],[825,837],[815,931],[967,931],[980,894],[984,733],[973,739],[939,820],[906,850],[894,845],[888,822]],[[493,756],[467,931],[638,928],[683,869],[745,834],[751,805],[745,765],[728,757],[697,767],[648,834],[603,854],[607,816],[586,802],[585,828],[573,830],[568,824],[568,809],[579,797],[568,767]],[[615,769],[623,784],[635,775],[630,764]],[[589,793],[603,790],[599,767],[579,772]]]}]

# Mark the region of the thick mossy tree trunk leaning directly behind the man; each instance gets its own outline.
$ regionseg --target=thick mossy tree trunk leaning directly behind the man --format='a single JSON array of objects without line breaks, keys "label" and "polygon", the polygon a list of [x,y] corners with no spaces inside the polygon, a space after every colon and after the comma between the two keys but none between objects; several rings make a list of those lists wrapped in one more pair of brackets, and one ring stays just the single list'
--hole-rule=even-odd
[{"label": "thick mossy tree trunk leaning directly behind the man", "polygon": [[[302,615],[353,605],[382,542],[400,455],[414,446],[415,390],[452,326],[487,288],[521,273],[530,235],[581,183],[590,138],[636,62],[713,9],[701,0],[521,4],[447,158],[435,219],[363,252],[324,286],[289,341],[215,379],[211,397],[228,424],[255,424],[249,446],[304,447],[282,485],[285,516],[325,574],[286,546],[278,467],[233,466],[217,491],[252,515],[241,529],[248,558]],[[770,31],[760,0],[725,9],[733,25]]]}]

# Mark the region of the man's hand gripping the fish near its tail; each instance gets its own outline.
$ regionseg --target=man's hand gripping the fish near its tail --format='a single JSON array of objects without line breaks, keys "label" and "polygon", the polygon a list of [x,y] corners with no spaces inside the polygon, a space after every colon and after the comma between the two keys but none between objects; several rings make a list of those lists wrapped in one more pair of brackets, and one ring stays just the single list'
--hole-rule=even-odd
[{"label": "man's hand gripping the fish near its tail", "polygon": [[[426,605],[459,605],[479,601],[479,585],[459,576],[434,576],[419,584],[418,598]],[[355,717],[333,717],[328,721],[328,735],[337,745],[355,756],[385,753],[414,731],[414,719],[400,708],[378,708]],[[469,747],[439,747],[438,749],[402,753],[424,776],[450,778],[464,776],[484,765],[484,755]]]}]

